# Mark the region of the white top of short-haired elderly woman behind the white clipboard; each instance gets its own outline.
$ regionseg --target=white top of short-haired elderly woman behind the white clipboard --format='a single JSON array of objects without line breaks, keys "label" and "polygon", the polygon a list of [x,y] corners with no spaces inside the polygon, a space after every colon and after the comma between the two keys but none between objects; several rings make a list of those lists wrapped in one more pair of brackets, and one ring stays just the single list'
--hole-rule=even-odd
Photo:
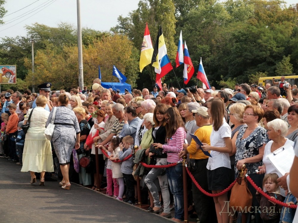
[{"label": "white top of short-haired elderly woman behind the white clipboard", "polygon": [[[277,169],[272,165],[272,163],[269,161],[269,159],[267,157],[271,153],[272,143],[273,143],[272,140],[269,141],[266,144],[265,149],[264,149],[263,163],[266,166],[266,174],[276,173],[278,175],[278,177],[282,177],[283,175],[277,171]],[[285,145],[283,145],[283,147],[285,148],[285,150],[293,150],[294,142],[287,139],[287,141],[285,141]],[[280,194],[285,197],[285,190],[280,188]]]}]

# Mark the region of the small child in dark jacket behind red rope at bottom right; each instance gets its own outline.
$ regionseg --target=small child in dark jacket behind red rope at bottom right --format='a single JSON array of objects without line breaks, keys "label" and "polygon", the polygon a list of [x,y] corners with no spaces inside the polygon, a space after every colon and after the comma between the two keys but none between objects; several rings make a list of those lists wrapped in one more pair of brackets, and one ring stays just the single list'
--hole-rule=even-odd
[{"label": "small child in dark jacket behind red rope at bottom right", "polygon": [[[276,200],[283,201],[284,197],[279,192],[279,186],[277,185],[278,175],[276,173],[266,174],[263,179],[263,188],[266,189],[266,194],[274,197]],[[278,223],[280,220],[281,205],[269,201],[266,197],[261,196],[257,191],[257,201],[260,203],[261,218],[264,223]],[[274,208],[273,208],[274,207]]]}]

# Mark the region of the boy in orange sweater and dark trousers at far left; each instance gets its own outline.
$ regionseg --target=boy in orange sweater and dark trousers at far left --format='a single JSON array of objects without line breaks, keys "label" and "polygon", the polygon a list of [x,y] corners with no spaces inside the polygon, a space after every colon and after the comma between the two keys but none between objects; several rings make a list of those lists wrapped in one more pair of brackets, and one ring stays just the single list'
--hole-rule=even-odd
[{"label": "boy in orange sweater and dark trousers at far left", "polygon": [[6,134],[9,135],[8,147],[10,149],[10,162],[18,162],[18,157],[15,151],[15,141],[10,140],[11,138],[16,138],[18,134],[18,115],[15,113],[17,106],[15,104],[10,104],[8,106],[9,113],[11,114],[8,118],[6,126]]}]

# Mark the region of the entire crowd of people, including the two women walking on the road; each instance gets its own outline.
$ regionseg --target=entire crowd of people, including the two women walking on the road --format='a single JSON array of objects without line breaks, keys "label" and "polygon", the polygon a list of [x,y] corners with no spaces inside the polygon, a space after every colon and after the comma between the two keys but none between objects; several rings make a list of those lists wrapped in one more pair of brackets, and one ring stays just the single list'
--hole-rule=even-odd
[{"label": "entire crowd of people, including the two women walking on the road", "polygon": [[[120,95],[119,89],[104,89],[97,78],[90,90],[51,91],[51,83],[39,85],[39,95],[7,90],[0,95],[0,154],[21,165],[21,172],[30,172],[31,184],[39,178],[44,186],[48,175],[58,175],[62,189],[70,189],[71,182],[94,190],[106,187],[108,196],[129,204],[137,200],[135,178],[140,177],[142,194],[149,197],[148,211],[175,222],[184,220],[184,156],[205,191],[216,194],[226,189],[245,164],[258,187],[277,200],[297,204],[297,191],[292,194],[285,183],[289,173],[281,174],[268,155],[284,147],[295,156],[298,89],[273,83],[279,87],[243,83],[235,89],[168,89],[164,84],[162,89],[155,85],[152,92],[125,89]],[[44,131],[52,122],[49,141]],[[88,167],[78,166],[83,156],[93,160]],[[139,161],[177,165],[142,168],[136,165]],[[229,194],[212,198],[191,181],[187,187],[189,212],[201,223],[231,221],[229,212],[223,211]],[[276,204],[264,200],[250,184],[248,188],[254,211],[238,213],[238,222],[293,222],[295,209],[260,213]]]}]

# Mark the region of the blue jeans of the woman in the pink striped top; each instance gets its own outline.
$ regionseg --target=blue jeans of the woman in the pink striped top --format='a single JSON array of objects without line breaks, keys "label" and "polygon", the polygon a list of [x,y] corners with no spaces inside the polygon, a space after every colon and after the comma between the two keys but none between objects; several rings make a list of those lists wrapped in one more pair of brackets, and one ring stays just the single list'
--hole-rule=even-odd
[{"label": "blue jeans of the woman in the pink striped top", "polygon": [[182,163],[175,167],[167,168],[167,177],[171,193],[175,203],[175,217],[179,220],[184,220],[184,200],[183,200],[183,175]]}]

